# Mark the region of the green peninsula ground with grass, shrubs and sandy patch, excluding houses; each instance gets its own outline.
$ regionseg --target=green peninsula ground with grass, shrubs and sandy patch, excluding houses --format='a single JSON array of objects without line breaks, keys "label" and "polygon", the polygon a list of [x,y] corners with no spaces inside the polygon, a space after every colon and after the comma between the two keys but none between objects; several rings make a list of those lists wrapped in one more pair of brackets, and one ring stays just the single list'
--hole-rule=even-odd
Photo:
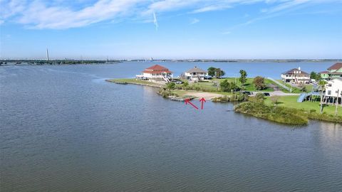
[{"label": "green peninsula ground with grass, shrubs and sandy patch, excluding houses", "polygon": [[[297,102],[300,94],[311,92],[313,85],[291,87],[291,92],[284,87],[291,85],[280,80],[269,80],[257,76],[247,78],[247,72],[240,70],[239,78],[222,78],[224,71],[209,68],[211,78],[191,81],[175,78],[167,83],[151,82],[133,78],[107,80],[118,84],[133,84],[158,87],[157,93],[172,100],[204,97],[212,102],[234,102],[234,111],[254,117],[268,119],[282,124],[305,125],[309,119],[342,123],[342,107],[321,105],[320,100]],[[279,86],[284,85],[284,87]],[[317,87],[317,86],[316,86]],[[321,86],[322,87],[322,86]],[[319,88],[319,86],[318,86]]]}]

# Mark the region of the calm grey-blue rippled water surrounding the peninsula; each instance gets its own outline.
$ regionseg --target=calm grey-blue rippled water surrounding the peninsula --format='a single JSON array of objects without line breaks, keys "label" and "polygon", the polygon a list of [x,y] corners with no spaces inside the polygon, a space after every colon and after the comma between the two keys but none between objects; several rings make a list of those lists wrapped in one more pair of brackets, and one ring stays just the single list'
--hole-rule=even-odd
[{"label": "calm grey-blue rippled water surrounding the peninsula", "polygon": [[[162,64],[176,75],[195,65]],[[331,64],[197,65],[278,78]],[[341,125],[289,127],[212,102],[195,111],[103,81],[149,65],[0,67],[0,191],[341,191]]]}]

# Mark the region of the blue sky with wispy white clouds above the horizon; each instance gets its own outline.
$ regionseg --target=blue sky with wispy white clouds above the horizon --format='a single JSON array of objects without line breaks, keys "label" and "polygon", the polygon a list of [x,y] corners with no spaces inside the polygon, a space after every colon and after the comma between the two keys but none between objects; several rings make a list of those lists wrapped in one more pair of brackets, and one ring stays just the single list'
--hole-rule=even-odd
[{"label": "blue sky with wispy white clouds above the horizon", "polygon": [[342,0],[0,0],[0,58],[342,58]]}]

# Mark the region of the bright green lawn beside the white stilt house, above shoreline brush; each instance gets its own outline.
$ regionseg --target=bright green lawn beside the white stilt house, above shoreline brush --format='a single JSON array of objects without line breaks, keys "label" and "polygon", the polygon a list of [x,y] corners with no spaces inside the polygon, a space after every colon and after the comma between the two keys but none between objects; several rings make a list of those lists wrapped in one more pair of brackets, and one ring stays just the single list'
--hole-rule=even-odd
[{"label": "bright green lawn beside the white stilt house, above shoreline brush", "polygon": [[[316,110],[316,112],[320,112],[319,102],[297,102],[299,96],[284,96],[279,97],[279,106],[290,107],[295,109],[304,109],[306,111]],[[266,105],[273,105],[271,103],[270,97],[266,97],[265,100]],[[335,106],[326,106],[323,108],[323,112],[327,114],[335,114]],[[338,115],[342,116],[342,107],[338,107]]]}]

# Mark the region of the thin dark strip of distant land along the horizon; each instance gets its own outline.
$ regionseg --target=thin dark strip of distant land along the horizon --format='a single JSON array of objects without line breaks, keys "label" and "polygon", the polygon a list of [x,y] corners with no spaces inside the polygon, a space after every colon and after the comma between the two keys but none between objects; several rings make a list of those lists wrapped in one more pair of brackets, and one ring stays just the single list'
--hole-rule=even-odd
[{"label": "thin dark strip of distant land along the horizon", "polygon": [[74,65],[74,64],[114,64],[122,62],[220,62],[220,63],[239,63],[239,62],[272,62],[272,63],[294,63],[294,62],[341,62],[342,59],[237,59],[237,60],[216,60],[216,59],[182,59],[182,60],[0,60],[0,65]]}]

